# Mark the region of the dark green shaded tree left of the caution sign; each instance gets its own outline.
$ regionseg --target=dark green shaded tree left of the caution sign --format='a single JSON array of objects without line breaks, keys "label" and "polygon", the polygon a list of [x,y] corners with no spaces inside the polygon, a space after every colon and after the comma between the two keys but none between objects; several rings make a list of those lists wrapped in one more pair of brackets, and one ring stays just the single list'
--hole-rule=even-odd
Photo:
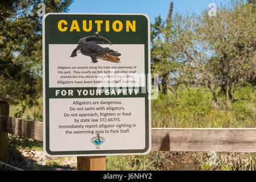
[{"label": "dark green shaded tree left of the caution sign", "polygon": [[[71,0],[43,1],[48,12],[66,12]],[[0,100],[31,102],[42,93],[40,1],[0,2]]]}]

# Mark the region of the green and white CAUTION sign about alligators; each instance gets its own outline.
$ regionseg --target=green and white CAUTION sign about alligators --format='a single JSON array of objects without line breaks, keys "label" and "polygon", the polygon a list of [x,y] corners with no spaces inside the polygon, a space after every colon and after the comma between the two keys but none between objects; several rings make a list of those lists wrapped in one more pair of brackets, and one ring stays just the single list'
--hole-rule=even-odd
[{"label": "green and white CAUTION sign about alligators", "polygon": [[150,22],[144,14],[43,18],[44,152],[151,150]]}]

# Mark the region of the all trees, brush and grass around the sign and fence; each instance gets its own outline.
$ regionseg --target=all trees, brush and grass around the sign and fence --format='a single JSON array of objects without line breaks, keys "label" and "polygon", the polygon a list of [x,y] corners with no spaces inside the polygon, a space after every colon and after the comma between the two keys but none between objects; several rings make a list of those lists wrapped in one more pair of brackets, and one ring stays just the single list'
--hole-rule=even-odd
[{"label": "all trees, brush and grass around the sign and fence", "polygon": [[[0,3],[0,100],[12,105],[10,115],[42,121],[42,18],[40,1]],[[46,0],[47,12],[66,12],[70,0]],[[151,26],[152,73],[168,75],[168,94],[152,100],[152,127],[255,127],[255,1],[234,1],[218,10],[174,15],[166,26],[161,17]],[[160,79],[160,81],[163,81]],[[172,83],[172,84],[170,84]],[[249,83],[249,84],[248,84]],[[217,99],[218,97],[218,99]],[[232,101],[232,102],[228,102]],[[31,105],[34,105],[31,107]],[[229,106],[230,105],[230,106]],[[9,135],[9,158],[22,162],[17,149],[42,150],[42,142]],[[168,155],[107,156],[108,170],[168,169]],[[202,170],[255,170],[255,154],[208,153],[194,158]],[[48,166],[59,161],[49,160]]]}]

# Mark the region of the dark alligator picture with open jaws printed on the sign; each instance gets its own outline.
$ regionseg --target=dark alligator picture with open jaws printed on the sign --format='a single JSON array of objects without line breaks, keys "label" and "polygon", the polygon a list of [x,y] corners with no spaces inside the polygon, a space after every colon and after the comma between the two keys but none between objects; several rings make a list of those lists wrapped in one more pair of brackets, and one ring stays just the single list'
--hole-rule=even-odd
[{"label": "dark alligator picture with open jaws printed on the sign", "polygon": [[96,43],[105,43],[112,45],[112,43],[108,39],[103,38],[98,34],[96,34],[96,36],[87,36],[79,40],[78,47],[74,49],[70,57],[77,56],[76,52],[80,50],[83,55],[91,57],[92,63],[97,63],[97,59],[103,59],[113,62],[120,61],[118,56],[121,56],[121,54],[119,52],[113,51],[108,47],[101,47]]}]

